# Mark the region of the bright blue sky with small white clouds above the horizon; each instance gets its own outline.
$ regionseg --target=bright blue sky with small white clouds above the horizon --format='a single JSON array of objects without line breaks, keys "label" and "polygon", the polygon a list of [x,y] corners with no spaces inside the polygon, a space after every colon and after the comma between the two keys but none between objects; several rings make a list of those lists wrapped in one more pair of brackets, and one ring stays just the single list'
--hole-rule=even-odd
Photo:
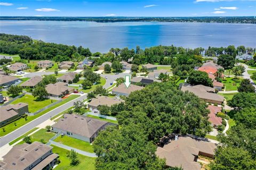
[{"label": "bright blue sky with small white clouds above the horizon", "polygon": [[256,0],[1,1],[1,16],[255,16]]}]

